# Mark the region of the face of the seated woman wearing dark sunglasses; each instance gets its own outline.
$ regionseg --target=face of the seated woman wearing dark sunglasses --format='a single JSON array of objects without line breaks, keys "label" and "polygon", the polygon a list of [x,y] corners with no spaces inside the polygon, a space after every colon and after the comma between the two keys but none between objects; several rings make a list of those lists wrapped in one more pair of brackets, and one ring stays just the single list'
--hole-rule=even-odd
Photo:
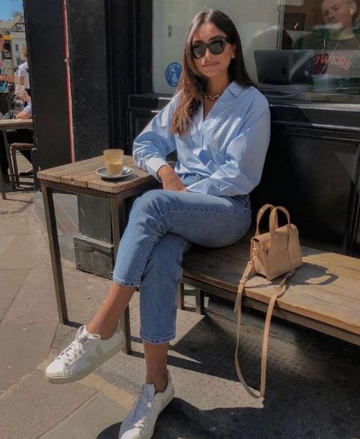
[{"label": "face of the seated woman wearing dark sunglasses", "polygon": [[[204,23],[194,34],[193,47],[197,43],[209,43],[210,40],[216,40],[215,37],[227,37],[213,23]],[[202,58],[194,58],[194,64],[197,71],[205,78],[215,78],[218,76],[227,76],[230,61],[235,57],[235,45],[225,41],[224,51],[221,54],[212,54],[209,47],[207,47]]]}]

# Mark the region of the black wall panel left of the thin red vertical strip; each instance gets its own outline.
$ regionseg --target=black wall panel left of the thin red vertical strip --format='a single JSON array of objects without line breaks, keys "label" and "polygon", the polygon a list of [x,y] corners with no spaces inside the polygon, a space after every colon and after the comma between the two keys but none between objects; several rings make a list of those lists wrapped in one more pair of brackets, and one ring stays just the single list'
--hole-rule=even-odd
[{"label": "black wall panel left of the thin red vertical strip", "polygon": [[24,0],[34,112],[36,162],[41,169],[71,158],[62,1]]}]

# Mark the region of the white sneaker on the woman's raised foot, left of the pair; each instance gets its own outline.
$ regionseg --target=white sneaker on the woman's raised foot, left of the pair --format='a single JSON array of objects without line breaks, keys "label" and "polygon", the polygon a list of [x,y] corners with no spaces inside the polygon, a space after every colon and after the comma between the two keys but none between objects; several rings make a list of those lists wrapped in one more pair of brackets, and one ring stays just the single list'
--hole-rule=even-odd
[{"label": "white sneaker on the woman's raised foot, left of the pair", "polygon": [[86,326],[81,326],[75,340],[47,366],[45,376],[53,384],[80,380],[119,352],[124,344],[120,327],[112,337],[102,340],[100,335],[89,334]]}]

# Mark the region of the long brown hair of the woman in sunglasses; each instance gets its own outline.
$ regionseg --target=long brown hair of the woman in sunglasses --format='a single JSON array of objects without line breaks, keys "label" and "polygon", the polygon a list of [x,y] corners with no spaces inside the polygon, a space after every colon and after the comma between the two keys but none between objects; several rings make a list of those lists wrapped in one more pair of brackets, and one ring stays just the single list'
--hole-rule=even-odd
[{"label": "long brown hair of the woman in sunglasses", "polygon": [[171,121],[171,131],[175,134],[184,135],[188,131],[191,119],[199,108],[202,99],[201,92],[206,86],[206,79],[195,67],[191,45],[194,34],[204,23],[209,22],[222,30],[229,37],[230,42],[235,44],[235,58],[231,59],[228,69],[230,82],[235,81],[244,87],[255,86],[246,71],[240,36],[232,20],[217,9],[199,12],[190,23],[185,36],[182,74],[178,85],[179,103]]}]

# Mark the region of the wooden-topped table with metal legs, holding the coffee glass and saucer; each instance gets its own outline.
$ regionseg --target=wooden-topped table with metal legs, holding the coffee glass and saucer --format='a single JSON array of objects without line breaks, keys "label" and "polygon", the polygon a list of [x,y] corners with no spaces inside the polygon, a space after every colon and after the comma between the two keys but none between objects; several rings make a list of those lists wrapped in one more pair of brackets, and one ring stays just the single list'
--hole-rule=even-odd
[{"label": "wooden-topped table with metal legs, holding the coffee glass and saucer", "polygon": [[[114,255],[116,256],[120,242],[120,234],[126,226],[124,200],[159,185],[159,182],[150,174],[134,165],[132,157],[125,156],[124,165],[132,167],[134,172],[125,179],[116,181],[102,180],[100,176],[95,174],[96,169],[104,166],[103,156],[70,163],[68,165],[57,166],[51,169],[45,169],[37,173],[44,199],[58,315],[62,324],[70,324],[72,322],[69,322],[67,313],[58,231],[56,227],[54,200],[52,196],[53,190],[67,191],[74,194],[89,195],[91,197],[105,198],[109,200],[111,205],[111,227],[113,232]],[[121,213],[119,212],[119,209],[121,210]],[[124,352],[128,353],[131,351],[128,307],[121,317],[120,322],[126,339]]]}]

